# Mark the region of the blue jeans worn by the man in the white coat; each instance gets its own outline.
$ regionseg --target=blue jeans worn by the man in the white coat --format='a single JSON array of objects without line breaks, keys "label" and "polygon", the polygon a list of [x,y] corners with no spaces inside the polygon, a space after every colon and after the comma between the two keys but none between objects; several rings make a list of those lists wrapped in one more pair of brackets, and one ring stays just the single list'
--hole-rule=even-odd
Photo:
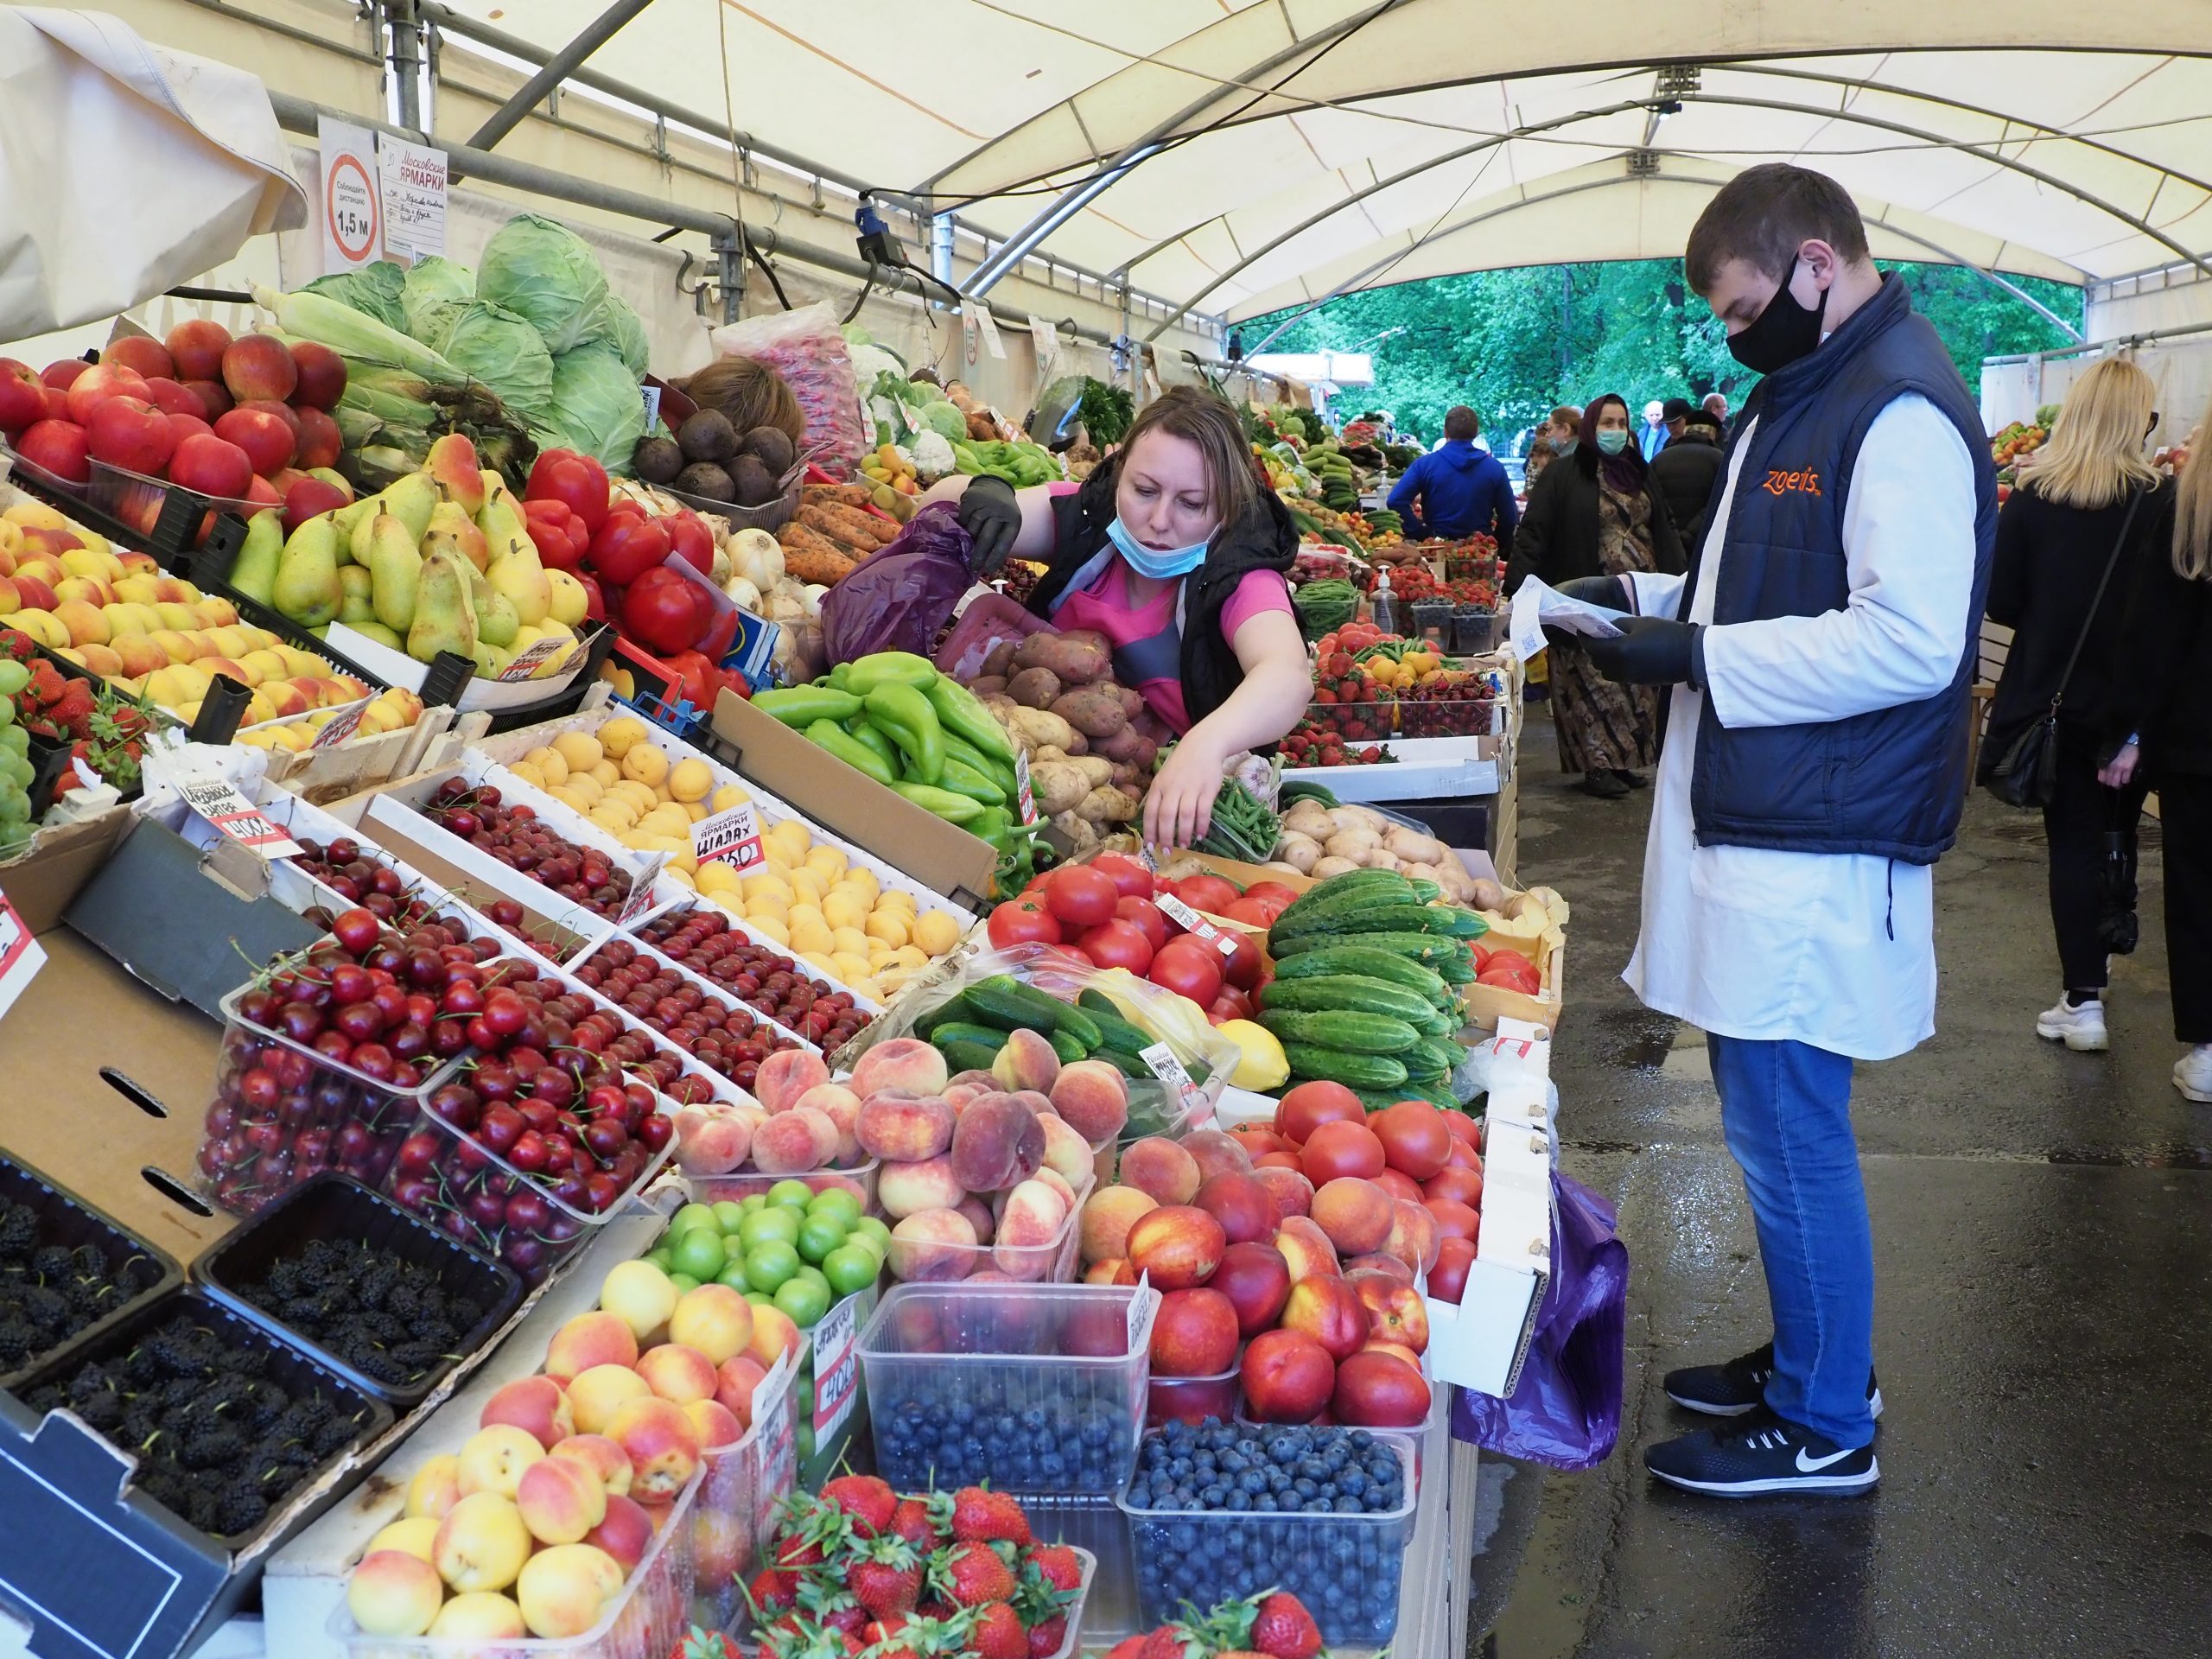
[{"label": "blue jeans worn by the man in the white coat", "polygon": [[1774,1305],[1767,1409],[1838,1447],[1874,1440],[1874,1234],[1851,1139],[1851,1062],[1805,1042],[1708,1037]]}]

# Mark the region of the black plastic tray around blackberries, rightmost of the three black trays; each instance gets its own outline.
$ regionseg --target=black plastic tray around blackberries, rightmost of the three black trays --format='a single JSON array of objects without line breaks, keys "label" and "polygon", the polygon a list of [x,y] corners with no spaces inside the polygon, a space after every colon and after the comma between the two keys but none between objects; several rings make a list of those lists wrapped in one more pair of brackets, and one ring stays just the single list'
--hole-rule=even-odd
[{"label": "black plastic tray around blackberries, rightmost of the three black trays", "polygon": [[[440,1290],[469,1296],[484,1312],[462,1332],[456,1354],[436,1369],[409,1383],[378,1383],[314,1338],[292,1329],[279,1314],[252,1301],[252,1292],[268,1281],[270,1270],[279,1261],[305,1254],[307,1245],[316,1239],[330,1243],[361,1241],[409,1265],[429,1267],[438,1274]],[[252,1221],[223,1234],[206,1254],[192,1261],[192,1279],[210,1301],[303,1347],[356,1389],[374,1400],[389,1402],[403,1416],[429,1398],[429,1391],[438,1387],[438,1380],[462,1356],[484,1347],[491,1334],[522,1305],[522,1276],[513,1267],[476,1254],[442,1230],[407,1214],[392,1199],[330,1172],[292,1188],[292,1192],[263,1208]]]}]

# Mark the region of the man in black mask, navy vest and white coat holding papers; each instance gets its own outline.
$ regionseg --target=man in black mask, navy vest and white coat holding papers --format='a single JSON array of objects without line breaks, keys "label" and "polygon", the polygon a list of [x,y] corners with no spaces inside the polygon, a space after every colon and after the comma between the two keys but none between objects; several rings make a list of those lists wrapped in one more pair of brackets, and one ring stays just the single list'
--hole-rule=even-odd
[{"label": "man in black mask, navy vest and white coat holding papers", "polygon": [[1765,378],[1736,416],[1686,575],[1595,577],[1635,615],[1584,639],[1672,686],[1624,975],[1710,1033],[1774,1340],[1670,1371],[1730,1418],[1655,1444],[1688,1491],[1874,1486],[1874,1243],[1851,1062],[1936,1029],[1931,865],[1966,794],[1966,699],[1997,522],[1982,418],[1851,197],[1756,166],[1699,217],[1690,285]]}]

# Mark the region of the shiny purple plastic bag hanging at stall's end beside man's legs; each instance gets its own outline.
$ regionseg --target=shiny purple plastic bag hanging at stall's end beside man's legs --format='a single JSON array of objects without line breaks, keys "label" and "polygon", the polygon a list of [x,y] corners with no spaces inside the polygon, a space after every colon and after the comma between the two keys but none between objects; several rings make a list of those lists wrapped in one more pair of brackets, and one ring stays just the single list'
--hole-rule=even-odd
[{"label": "shiny purple plastic bag hanging at stall's end beside man's legs", "polygon": [[1595,1469],[1621,1438],[1621,1354],[1628,1340],[1628,1245],[1613,1206],[1553,1170],[1553,1274],[1513,1396],[1460,1389],[1451,1433],[1484,1451],[1553,1469]]}]

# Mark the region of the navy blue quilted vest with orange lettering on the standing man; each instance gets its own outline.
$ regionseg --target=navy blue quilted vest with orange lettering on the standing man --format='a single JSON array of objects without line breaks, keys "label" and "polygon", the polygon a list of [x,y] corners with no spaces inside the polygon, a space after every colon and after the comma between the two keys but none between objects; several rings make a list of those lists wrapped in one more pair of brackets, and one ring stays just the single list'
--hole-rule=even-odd
[{"label": "navy blue quilted vest with orange lettering on the standing man", "polygon": [[[1690,613],[1699,562],[1721,560],[1714,624],[1816,617],[1851,597],[1843,509],[1867,427],[1918,392],[1958,427],[1973,456],[1973,611],[1958,672],[1936,697],[1809,726],[1728,730],[1705,699],[1697,728],[1690,816],[1703,845],[1863,852],[1933,865],[1958,838],[1966,799],[1966,706],[1989,560],[1997,535],[1997,473],[1982,414],[1905,283],[1882,281],[1818,352],[1752,392],[1730,442],[1747,453],[1728,513],[1728,544],[1701,546],[1683,582]],[[1756,425],[1754,425],[1756,420]],[[1728,489],[1728,469],[1719,491]]]}]

